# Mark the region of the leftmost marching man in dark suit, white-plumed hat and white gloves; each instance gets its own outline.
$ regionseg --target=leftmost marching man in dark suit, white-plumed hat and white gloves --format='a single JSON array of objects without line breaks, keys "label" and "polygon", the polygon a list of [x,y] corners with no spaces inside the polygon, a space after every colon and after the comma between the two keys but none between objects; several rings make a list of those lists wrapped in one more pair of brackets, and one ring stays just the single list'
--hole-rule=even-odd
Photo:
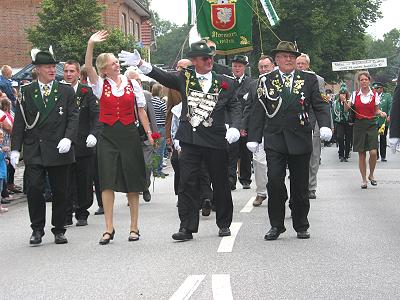
[{"label": "leftmost marching man in dark suit, white-plumed hat and white gloves", "polygon": [[31,51],[37,82],[21,88],[11,139],[11,163],[16,166],[24,150],[27,198],[31,219],[31,245],[42,242],[46,221],[43,197],[45,174],[53,192],[51,231],[56,244],[65,244],[66,189],[69,166],[75,161],[79,111],[74,89],[55,80],[56,64],[52,49]]}]

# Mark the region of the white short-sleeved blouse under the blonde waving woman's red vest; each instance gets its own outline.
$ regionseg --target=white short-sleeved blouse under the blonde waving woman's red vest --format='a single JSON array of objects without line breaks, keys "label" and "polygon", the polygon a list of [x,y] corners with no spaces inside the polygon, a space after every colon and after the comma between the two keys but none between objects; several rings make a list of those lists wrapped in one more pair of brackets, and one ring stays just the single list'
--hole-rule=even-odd
[{"label": "white short-sleeved blouse under the blonde waving woman's red vest", "polygon": [[[98,77],[97,78],[97,83],[93,84],[91,83],[91,87],[93,89],[93,94],[100,99],[101,94],[103,93],[103,86],[104,86],[104,79],[107,79],[108,82],[111,85],[111,93],[115,96],[115,97],[121,97],[124,93],[125,93],[125,87],[129,84],[128,83],[128,78],[124,75],[119,75],[119,77],[121,78],[121,85],[119,87],[117,87],[117,84],[114,82],[114,80],[110,79],[110,78],[102,78],[102,77]],[[146,106],[146,99],[144,97],[144,93],[143,93],[143,89],[142,87],[139,85],[139,83],[135,80],[132,79],[132,87],[133,87],[133,92],[135,93],[135,100],[136,103],[138,105],[138,107],[145,107]]]}]

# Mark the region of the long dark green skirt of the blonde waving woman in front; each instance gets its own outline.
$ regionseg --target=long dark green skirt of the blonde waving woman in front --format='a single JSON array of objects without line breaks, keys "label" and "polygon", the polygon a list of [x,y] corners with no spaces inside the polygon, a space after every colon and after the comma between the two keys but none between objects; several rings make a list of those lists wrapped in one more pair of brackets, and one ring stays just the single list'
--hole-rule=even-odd
[{"label": "long dark green skirt of the blonde waving woman in front", "polygon": [[134,124],[104,124],[97,143],[100,188],[116,192],[143,192],[146,173],[138,129]]}]

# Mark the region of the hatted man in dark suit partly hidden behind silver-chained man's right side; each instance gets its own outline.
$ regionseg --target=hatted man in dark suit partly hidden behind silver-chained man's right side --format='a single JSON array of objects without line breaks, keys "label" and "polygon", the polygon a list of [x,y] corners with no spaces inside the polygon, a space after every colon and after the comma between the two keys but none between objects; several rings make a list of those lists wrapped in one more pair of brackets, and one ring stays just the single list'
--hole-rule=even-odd
[{"label": "hatted man in dark suit partly hidden behind silver-chained man's right side", "polygon": [[[253,81],[250,76],[246,74],[246,66],[249,64],[249,59],[246,55],[235,55],[232,60],[232,74],[234,78],[235,95],[238,98],[243,112],[247,105],[247,98],[250,83]],[[228,121],[229,124],[230,121]],[[246,147],[247,131],[245,128],[240,128],[240,139],[236,143],[229,145],[229,183],[231,189],[236,189],[237,181],[237,167],[240,160],[239,168],[239,182],[244,189],[250,189],[251,183],[251,158],[252,153]]]}]

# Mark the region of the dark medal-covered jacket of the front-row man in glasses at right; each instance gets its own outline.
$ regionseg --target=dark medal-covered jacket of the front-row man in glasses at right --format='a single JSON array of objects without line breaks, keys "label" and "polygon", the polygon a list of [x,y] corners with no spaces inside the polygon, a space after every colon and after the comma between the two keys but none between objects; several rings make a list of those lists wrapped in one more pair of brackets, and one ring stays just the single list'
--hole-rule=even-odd
[{"label": "dark medal-covered jacket of the front-row man in glasses at right", "polygon": [[[248,141],[261,142],[264,134],[264,147],[268,151],[301,155],[312,152],[312,127],[309,120],[302,125],[299,114],[302,113],[301,96],[304,96],[304,112],[314,109],[318,125],[330,128],[329,104],[324,102],[318,88],[318,80],[314,74],[296,71],[291,94],[279,92],[278,86],[283,86],[279,71],[273,71],[261,76],[258,80],[257,92],[262,92],[262,81],[265,78],[266,91],[271,98],[282,97],[281,108],[277,114],[269,118],[265,109],[272,114],[278,107],[278,101],[271,101],[264,95],[256,95],[249,118]],[[296,82],[303,81],[301,88],[295,93]],[[300,84],[301,85],[301,84]]]}]

